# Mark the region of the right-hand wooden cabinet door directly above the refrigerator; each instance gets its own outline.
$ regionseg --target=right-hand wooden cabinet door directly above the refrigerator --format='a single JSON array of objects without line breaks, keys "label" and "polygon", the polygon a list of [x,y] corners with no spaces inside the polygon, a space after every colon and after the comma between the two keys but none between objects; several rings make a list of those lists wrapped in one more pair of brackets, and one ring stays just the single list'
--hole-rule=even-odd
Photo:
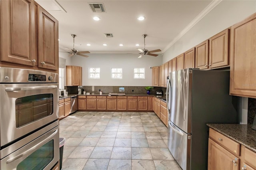
[{"label": "right-hand wooden cabinet door directly above the refrigerator", "polygon": [[209,40],[209,68],[228,65],[229,29],[226,29]]}]

